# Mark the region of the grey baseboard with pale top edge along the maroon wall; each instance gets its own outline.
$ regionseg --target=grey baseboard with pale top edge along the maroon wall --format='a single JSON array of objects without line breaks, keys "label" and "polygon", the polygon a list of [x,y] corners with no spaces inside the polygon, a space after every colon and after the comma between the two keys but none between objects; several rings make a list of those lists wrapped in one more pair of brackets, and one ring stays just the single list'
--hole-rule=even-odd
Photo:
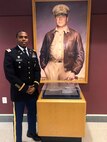
[{"label": "grey baseboard with pale top edge along the maroon wall", "polygon": [[[24,114],[23,121],[27,122],[27,115]],[[0,114],[0,122],[13,122],[13,114]],[[107,122],[106,114],[87,114],[86,122]]]}]

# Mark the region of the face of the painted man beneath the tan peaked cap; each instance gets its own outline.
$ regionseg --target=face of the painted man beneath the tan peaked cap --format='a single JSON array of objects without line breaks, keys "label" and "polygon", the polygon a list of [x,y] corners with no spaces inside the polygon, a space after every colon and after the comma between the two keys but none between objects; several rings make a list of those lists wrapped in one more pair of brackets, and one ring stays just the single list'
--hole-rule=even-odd
[{"label": "face of the painted man beneath the tan peaked cap", "polygon": [[58,15],[55,17],[56,19],[56,25],[58,27],[64,27],[67,25],[67,22],[68,22],[68,17],[66,15]]}]

